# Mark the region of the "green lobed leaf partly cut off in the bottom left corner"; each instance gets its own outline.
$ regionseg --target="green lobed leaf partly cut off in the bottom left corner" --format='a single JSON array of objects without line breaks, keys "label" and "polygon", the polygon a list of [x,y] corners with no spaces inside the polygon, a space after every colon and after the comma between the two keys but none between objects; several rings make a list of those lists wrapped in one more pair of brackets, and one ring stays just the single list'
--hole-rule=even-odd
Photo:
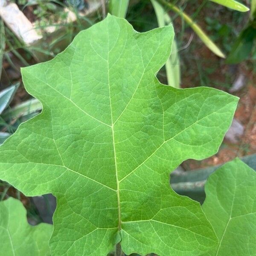
[{"label": "green lobed leaf partly cut off in the bottom left corner", "polygon": [[49,256],[49,239],[53,226],[31,226],[26,209],[14,198],[0,202],[0,254],[4,256]]}]

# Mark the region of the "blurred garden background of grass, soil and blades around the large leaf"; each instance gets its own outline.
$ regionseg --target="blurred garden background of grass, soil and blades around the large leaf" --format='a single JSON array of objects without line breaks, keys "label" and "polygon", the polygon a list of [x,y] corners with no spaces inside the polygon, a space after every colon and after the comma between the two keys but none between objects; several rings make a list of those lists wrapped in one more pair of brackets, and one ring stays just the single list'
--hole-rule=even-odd
[{"label": "blurred garden background of grass, soil and blades around the large leaf", "polygon": [[[14,29],[21,23],[20,16],[6,12],[6,6],[19,10],[36,40],[27,41]],[[174,172],[182,174],[178,182],[173,177],[177,192],[202,202],[202,177],[212,172],[212,166],[236,156],[245,157],[255,168],[256,0],[0,0],[0,144],[21,122],[41,111],[41,103],[23,87],[20,67],[54,58],[79,31],[108,12],[125,17],[138,32],[173,24],[172,54],[157,74],[162,83],[214,87],[240,97],[219,152],[203,161],[187,160]],[[52,222],[52,195],[28,198],[0,181],[0,200],[9,196],[23,202],[31,224]]]}]

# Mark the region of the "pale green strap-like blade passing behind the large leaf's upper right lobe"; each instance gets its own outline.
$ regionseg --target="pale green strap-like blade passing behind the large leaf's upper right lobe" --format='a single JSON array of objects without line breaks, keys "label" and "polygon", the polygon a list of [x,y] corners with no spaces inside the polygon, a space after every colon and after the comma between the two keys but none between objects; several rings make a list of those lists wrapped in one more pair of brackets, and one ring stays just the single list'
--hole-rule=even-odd
[{"label": "pale green strap-like blade passing behind the large leaf's upper right lobe", "polygon": [[[172,21],[169,15],[165,12],[163,7],[156,0],[151,0],[151,3],[154,7],[154,10],[157,16],[158,26],[162,27],[162,26],[165,26],[165,24],[168,24],[168,25],[172,24]],[[172,43],[171,56],[166,61],[165,67],[166,67],[168,84],[173,87],[179,88],[180,87],[180,62],[179,62],[179,57],[177,53],[177,44],[175,40]]]}]

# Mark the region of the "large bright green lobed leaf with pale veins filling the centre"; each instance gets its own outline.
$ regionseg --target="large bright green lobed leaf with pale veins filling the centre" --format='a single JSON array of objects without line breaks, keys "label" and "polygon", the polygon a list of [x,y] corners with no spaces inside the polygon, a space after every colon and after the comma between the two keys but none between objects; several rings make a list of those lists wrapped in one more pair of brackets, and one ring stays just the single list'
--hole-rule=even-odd
[{"label": "large bright green lobed leaf with pale veins filling the centre", "polygon": [[22,70],[43,111],[0,148],[0,178],[26,195],[57,198],[52,256],[201,255],[217,244],[201,206],[177,195],[169,173],[214,154],[237,98],[156,79],[172,26],[138,33],[108,17],[52,61]]}]

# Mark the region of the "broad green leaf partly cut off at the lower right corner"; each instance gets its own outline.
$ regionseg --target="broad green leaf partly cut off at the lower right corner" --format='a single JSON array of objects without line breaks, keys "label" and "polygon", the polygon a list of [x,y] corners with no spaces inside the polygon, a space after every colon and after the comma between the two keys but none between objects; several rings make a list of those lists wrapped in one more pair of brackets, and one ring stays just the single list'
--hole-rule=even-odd
[{"label": "broad green leaf partly cut off at the lower right corner", "polygon": [[208,179],[203,210],[219,244],[209,256],[256,255],[256,172],[238,158]]}]

